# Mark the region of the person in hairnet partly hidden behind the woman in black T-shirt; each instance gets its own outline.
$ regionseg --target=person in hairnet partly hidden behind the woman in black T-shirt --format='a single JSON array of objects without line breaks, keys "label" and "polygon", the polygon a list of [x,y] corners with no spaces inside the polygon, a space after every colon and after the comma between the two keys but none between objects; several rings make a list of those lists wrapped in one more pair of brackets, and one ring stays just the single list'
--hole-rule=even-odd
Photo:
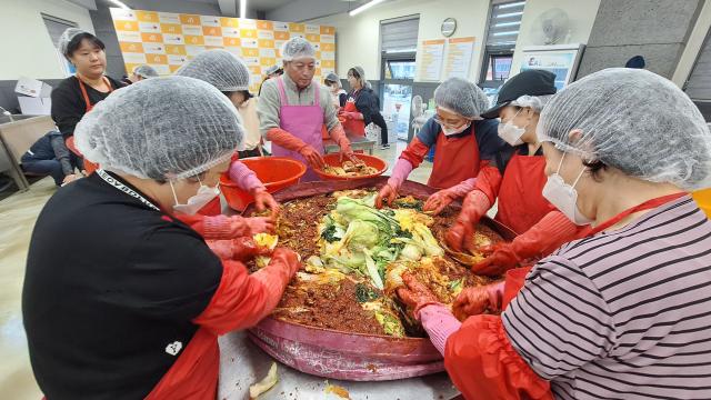
[{"label": "person in hairnet partly hidden behind the woman in black T-shirt", "polygon": [[[244,62],[237,58],[237,56],[222,49],[208,50],[201,52],[182,66],[176,71],[176,74],[200,79],[212,84],[230,99],[232,104],[240,110],[240,116],[242,116],[242,109],[246,108],[242,92],[249,88],[250,73]],[[247,112],[248,110],[244,111]],[[259,144],[261,137],[259,136],[259,131],[256,131],[259,128],[256,126],[258,121],[256,121],[256,116],[248,117],[248,128],[251,128],[251,131],[246,129],[247,139],[243,140],[243,142],[248,141],[250,143],[249,146],[252,146],[254,142]],[[253,136],[254,133],[257,137]],[[246,149],[246,144],[240,144],[238,149]],[[260,211],[269,208],[272,210],[272,217],[277,214],[279,204],[252,170],[233,158],[229,176],[240,189],[254,197],[254,203]],[[189,220],[184,221],[188,222]],[[217,216],[204,219],[196,217],[196,219],[191,219],[190,221],[193,222],[192,227],[196,230],[209,239],[226,239],[226,236],[228,238],[243,236],[247,228],[244,223],[251,227],[253,233],[270,229],[272,226],[272,222],[268,222],[266,218],[242,218],[239,216],[231,218]]]}]

